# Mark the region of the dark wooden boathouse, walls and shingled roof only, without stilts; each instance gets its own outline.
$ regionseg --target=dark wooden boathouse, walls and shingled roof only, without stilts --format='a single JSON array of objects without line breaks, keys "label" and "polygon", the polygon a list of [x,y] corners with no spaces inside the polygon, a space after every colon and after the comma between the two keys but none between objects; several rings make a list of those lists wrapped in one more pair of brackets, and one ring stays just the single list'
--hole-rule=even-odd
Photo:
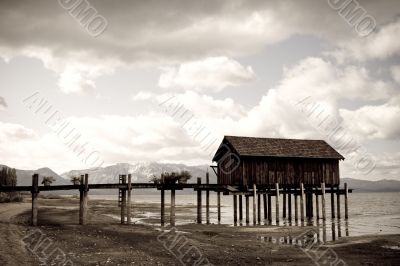
[{"label": "dark wooden boathouse, walls and shingled roof only, without stilts", "polygon": [[218,184],[312,187],[340,184],[339,160],[344,160],[323,140],[225,136],[213,161]]}]

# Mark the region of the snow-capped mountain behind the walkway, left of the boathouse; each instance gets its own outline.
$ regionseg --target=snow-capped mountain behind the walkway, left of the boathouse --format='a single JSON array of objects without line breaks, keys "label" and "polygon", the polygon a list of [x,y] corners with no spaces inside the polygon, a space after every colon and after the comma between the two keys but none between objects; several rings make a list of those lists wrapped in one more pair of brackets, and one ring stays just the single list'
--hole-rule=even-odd
[{"label": "snow-capped mountain behind the walkway, left of the boathouse", "polygon": [[69,180],[71,176],[80,176],[82,174],[89,174],[89,183],[118,183],[119,175],[132,174],[133,182],[149,182],[150,178],[160,176],[162,172],[177,172],[186,170],[192,174],[192,179],[189,182],[196,182],[197,177],[202,178],[202,182],[205,182],[206,171],[210,173],[210,183],[216,182],[216,176],[212,169],[207,165],[199,166],[187,166],[184,164],[168,164],[168,163],[118,163],[106,167],[83,169],[83,170],[72,170],[61,174],[64,179]]}]

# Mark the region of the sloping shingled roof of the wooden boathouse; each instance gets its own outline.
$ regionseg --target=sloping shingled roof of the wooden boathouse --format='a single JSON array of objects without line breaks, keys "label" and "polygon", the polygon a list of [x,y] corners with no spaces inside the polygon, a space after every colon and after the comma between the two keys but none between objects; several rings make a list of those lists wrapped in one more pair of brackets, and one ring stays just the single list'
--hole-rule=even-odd
[{"label": "sloping shingled roof of the wooden boathouse", "polygon": [[223,155],[223,145],[229,145],[239,156],[344,160],[344,157],[324,140],[225,136],[213,161],[218,161]]}]

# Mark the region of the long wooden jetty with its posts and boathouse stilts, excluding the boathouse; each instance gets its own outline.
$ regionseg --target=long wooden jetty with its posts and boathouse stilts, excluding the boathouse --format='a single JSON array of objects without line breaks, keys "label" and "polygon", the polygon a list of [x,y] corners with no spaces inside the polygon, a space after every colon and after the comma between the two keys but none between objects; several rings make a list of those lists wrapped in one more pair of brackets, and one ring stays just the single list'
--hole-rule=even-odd
[{"label": "long wooden jetty with its posts and boathouse stilts, excluding the boathouse", "polygon": [[[126,176],[126,175],[125,175]],[[128,175],[129,177],[129,175]],[[89,183],[89,175],[85,174],[84,176],[81,177],[81,184],[80,185],[56,185],[56,186],[39,186],[38,185],[38,180],[39,180],[39,175],[34,174],[32,176],[32,186],[0,186],[0,191],[1,192],[14,192],[14,191],[28,191],[31,192],[32,194],[32,225],[36,226],[37,225],[37,217],[38,217],[38,195],[40,192],[43,191],[61,191],[61,190],[79,190],[80,192],[80,200],[79,200],[79,224],[86,224],[87,223],[87,212],[88,212],[88,194],[90,190],[94,189],[120,189],[122,190],[122,202],[120,205],[121,208],[121,224],[130,224],[132,215],[131,215],[131,191],[134,189],[157,189],[160,191],[161,195],[161,206],[160,206],[160,224],[162,226],[165,225],[165,191],[169,190],[171,191],[171,208],[170,208],[170,225],[175,224],[175,191],[176,190],[183,190],[183,189],[193,189],[194,191],[197,191],[197,223],[201,224],[203,221],[203,204],[202,204],[202,192],[206,192],[206,202],[210,202],[210,192],[215,192],[217,193],[217,219],[218,223],[221,223],[221,199],[220,195],[221,192],[223,195],[233,195],[234,202],[237,199],[237,196],[239,196],[239,213],[240,213],[240,221],[242,219],[242,196],[245,197],[246,199],[246,224],[249,224],[249,198],[253,197],[253,224],[256,224],[256,215],[257,217],[264,217],[264,221],[267,222],[267,224],[272,224],[272,209],[271,209],[271,198],[276,197],[276,199],[279,199],[279,195],[283,193],[283,189],[279,188],[279,184],[276,183],[275,187],[270,187],[266,185],[260,185],[260,186],[254,186],[253,189],[249,189],[248,191],[241,191],[238,186],[230,186],[230,185],[221,185],[221,184],[202,184],[201,179],[198,178],[197,183],[191,183],[191,184],[153,184],[153,183],[132,183],[131,178],[128,178],[128,182],[123,182],[123,183],[115,183],[115,184],[90,184]],[[303,186],[301,184],[300,189],[295,190],[287,190],[285,193],[287,195],[291,195],[297,199],[300,197],[301,199],[304,199],[304,195],[307,195],[309,193],[313,193],[314,195],[318,195],[322,197],[321,201],[321,207],[323,210],[322,213],[322,219],[326,219],[326,215],[324,213],[325,210],[325,194],[326,193],[331,193],[332,195],[337,195],[337,197],[343,196],[344,197],[344,210],[345,210],[345,218],[348,218],[348,193],[351,193],[352,190],[347,188],[347,184],[345,184],[344,189],[339,189],[339,188],[334,188],[334,189],[326,189],[324,190],[324,184],[321,184],[322,189],[317,189],[313,191],[305,191],[302,189]],[[128,196],[125,196],[127,193]],[[264,206],[261,208],[261,200],[255,200],[256,197],[259,195],[263,195],[263,203]],[[256,203],[257,202],[257,203]],[[280,218],[280,201],[275,200],[276,202],[276,210],[275,210],[275,219],[277,221],[277,224],[279,224],[279,218]],[[296,201],[295,201],[296,202]],[[301,202],[304,202],[302,200]],[[338,204],[340,203],[337,201]],[[258,204],[258,205],[257,205]],[[256,207],[256,205],[258,207]],[[237,217],[237,207],[238,204],[234,204],[234,215]],[[210,223],[210,204],[205,205],[206,208],[206,223]],[[291,208],[289,205],[287,208]],[[297,210],[297,203],[295,203],[295,209]],[[339,208],[338,208],[339,210]],[[264,212],[262,215],[261,212]],[[304,208],[301,207],[300,211],[300,216],[302,217],[302,221],[304,221]],[[289,218],[288,218],[289,219]],[[297,217],[294,217],[294,220],[297,222]],[[234,218],[234,221],[238,222],[237,218]]]}]

